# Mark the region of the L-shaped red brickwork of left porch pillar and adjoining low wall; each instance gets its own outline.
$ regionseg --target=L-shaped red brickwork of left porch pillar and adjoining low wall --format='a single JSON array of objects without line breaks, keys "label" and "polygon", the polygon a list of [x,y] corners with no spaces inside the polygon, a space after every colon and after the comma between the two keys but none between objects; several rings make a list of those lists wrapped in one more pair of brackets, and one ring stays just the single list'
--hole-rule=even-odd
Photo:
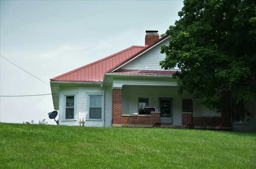
[{"label": "L-shaped red brickwork of left porch pillar and adjoining low wall", "polygon": [[160,122],[160,113],[152,113],[151,117],[122,116],[122,89],[113,89],[112,124],[152,125],[155,122]]}]

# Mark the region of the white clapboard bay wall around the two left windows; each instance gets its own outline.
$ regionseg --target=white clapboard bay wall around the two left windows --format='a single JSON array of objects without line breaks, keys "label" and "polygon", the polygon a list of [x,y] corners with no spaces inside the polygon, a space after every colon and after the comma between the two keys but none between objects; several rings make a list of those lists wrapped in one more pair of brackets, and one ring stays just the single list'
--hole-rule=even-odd
[{"label": "white clapboard bay wall around the two left windows", "polygon": [[[106,88],[106,87],[105,87]],[[87,93],[101,93],[103,94],[103,89],[100,85],[80,85],[80,86],[62,86],[60,94],[60,104],[59,104],[59,124],[60,125],[79,125],[79,119],[84,119],[85,126],[111,126],[112,120],[112,91],[111,87],[104,90],[104,120],[101,121],[92,121],[86,120],[86,115],[88,114],[87,110]],[[76,97],[76,116],[75,120],[64,120],[64,96],[69,93],[75,93]],[[103,124],[104,123],[104,124]]]}]

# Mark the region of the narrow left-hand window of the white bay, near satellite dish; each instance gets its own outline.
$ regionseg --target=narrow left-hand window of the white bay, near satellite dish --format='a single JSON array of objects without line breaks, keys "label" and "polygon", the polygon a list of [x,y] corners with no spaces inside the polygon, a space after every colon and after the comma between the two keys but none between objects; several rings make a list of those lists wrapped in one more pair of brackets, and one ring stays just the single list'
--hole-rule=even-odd
[{"label": "narrow left-hand window of the white bay, near satellite dish", "polygon": [[74,119],[75,96],[65,96],[65,119]]}]

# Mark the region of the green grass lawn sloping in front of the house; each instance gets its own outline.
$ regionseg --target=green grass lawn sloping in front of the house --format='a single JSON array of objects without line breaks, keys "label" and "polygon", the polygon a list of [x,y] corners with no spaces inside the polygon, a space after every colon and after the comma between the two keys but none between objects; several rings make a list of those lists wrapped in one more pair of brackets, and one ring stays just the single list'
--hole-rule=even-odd
[{"label": "green grass lawn sloping in front of the house", "polygon": [[0,168],[256,168],[256,134],[0,123]]}]

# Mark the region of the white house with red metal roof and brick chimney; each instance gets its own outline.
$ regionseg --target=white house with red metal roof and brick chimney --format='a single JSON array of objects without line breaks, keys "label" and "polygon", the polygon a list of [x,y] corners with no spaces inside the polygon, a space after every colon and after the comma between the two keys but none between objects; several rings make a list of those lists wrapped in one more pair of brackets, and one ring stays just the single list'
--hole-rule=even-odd
[{"label": "white house with red metal roof and brick chimney", "polygon": [[[176,95],[177,69],[163,70],[161,46],[169,45],[171,36],[159,39],[158,31],[146,31],[145,45],[131,46],[51,80],[53,105],[59,110],[60,125],[120,127],[170,127],[256,131],[255,98],[245,107],[253,118],[232,113],[233,92],[223,90],[226,112],[216,113],[192,96]],[[136,113],[136,114],[134,114]]]}]

